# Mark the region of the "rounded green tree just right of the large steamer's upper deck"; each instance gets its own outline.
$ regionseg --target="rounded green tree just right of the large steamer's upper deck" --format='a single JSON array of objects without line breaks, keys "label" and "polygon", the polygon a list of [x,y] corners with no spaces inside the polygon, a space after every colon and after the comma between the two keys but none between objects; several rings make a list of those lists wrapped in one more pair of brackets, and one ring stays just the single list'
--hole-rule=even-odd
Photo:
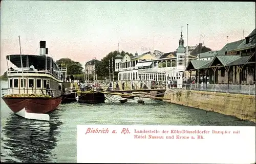
[{"label": "rounded green tree just right of the large steamer's upper deck", "polygon": [[68,74],[82,74],[82,64],[79,62],[72,61],[69,58],[62,58],[56,61],[57,65],[61,65],[61,67],[67,66]]}]

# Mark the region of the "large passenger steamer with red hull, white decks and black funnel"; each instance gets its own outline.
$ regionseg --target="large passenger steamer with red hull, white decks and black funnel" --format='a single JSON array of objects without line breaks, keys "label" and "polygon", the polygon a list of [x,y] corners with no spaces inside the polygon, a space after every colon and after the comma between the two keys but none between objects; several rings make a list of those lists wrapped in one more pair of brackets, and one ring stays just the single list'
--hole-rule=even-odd
[{"label": "large passenger steamer with red hull, white decks and black funnel", "polygon": [[[40,54],[10,54],[7,59],[8,88],[2,99],[17,115],[27,119],[49,121],[47,113],[61,102],[61,70],[48,56],[46,41],[40,41]],[[16,68],[9,67],[9,62]],[[65,71],[63,71],[65,72]]]}]

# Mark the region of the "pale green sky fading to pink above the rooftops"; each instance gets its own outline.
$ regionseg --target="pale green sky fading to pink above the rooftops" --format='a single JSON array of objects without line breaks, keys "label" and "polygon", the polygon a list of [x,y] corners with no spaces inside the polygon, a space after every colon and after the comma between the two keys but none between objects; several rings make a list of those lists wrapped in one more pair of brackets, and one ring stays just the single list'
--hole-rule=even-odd
[{"label": "pale green sky fading to pink above the rooftops", "polygon": [[70,58],[84,65],[118,50],[118,43],[120,51],[133,54],[145,52],[142,47],[167,53],[178,48],[182,30],[185,46],[188,38],[189,46],[203,41],[219,50],[254,29],[254,2],[6,0],[0,73],[8,54],[20,54],[18,36],[23,54],[39,54],[39,41],[45,40],[55,61]]}]

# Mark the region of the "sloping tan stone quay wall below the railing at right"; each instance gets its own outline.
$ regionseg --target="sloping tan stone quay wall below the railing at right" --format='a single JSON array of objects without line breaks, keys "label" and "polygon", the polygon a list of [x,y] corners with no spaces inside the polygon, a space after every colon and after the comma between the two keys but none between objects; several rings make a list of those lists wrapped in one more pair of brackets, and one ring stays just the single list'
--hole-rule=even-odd
[{"label": "sloping tan stone quay wall below the railing at right", "polygon": [[256,122],[255,95],[170,89],[164,97],[170,99],[166,102]]}]

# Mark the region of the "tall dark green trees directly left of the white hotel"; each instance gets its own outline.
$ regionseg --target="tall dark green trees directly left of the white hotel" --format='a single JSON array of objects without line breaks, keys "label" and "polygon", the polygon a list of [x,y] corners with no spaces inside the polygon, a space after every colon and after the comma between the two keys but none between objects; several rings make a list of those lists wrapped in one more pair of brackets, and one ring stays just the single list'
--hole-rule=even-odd
[{"label": "tall dark green trees directly left of the white hotel", "polygon": [[[114,52],[110,52],[109,54],[107,54],[102,60],[100,64],[96,64],[95,67],[95,71],[98,74],[98,79],[99,77],[102,79],[102,77],[109,77],[109,64],[111,65],[111,73],[112,73],[112,65],[114,66],[114,71],[115,71],[115,57],[120,54],[122,57],[125,56],[125,54],[128,54],[130,58],[133,57],[132,53],[129,52],[118,52],[118,51],[114,51]],[[113,64],[113,60],[114,60],[114,64]],[[110,61],[111,60],[111,61]],[[111,75],[112,78],[112,75]],[[114,80],[117,80],[118,78],[118,72],[114,72]],[[107,78],[108,79],[108,78]]]}]

